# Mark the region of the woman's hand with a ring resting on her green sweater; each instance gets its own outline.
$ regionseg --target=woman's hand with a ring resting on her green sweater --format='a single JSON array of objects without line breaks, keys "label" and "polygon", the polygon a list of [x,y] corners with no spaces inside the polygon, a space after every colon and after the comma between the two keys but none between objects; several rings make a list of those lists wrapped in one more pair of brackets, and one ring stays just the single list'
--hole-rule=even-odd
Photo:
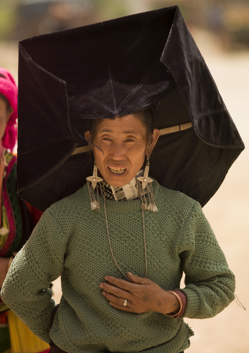
[{"label": "woman's hand with a ring resting on her green sweater", "polygon": [[102,294],[114,308],[137,314],[148,311],[169,314],[179,311],[180,303],[174,294],[163,290],[150,279],[130,272],[127,272],[127,277],[131,282],[105,276],[104,279],[108,283],[100,283]]}]

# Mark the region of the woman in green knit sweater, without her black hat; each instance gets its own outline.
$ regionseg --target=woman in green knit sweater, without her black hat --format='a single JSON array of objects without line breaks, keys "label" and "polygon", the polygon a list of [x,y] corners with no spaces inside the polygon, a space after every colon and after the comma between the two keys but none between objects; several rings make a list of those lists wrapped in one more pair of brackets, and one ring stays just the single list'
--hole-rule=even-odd
[{"label": "woman in green knit sweater, without her black hat", "polygon": [[[181,352],[193,335],[183,318],[213,317],[234,298],[234,276],[199,203],[148,177],[159,131],[144,115],[100,119],[86,131],[93,176],[46,210],[2,289],[33,332],[62,351]],[[110,200],[117,187],[124,201]],[[50,330],[48,287],[59,275]]]}]

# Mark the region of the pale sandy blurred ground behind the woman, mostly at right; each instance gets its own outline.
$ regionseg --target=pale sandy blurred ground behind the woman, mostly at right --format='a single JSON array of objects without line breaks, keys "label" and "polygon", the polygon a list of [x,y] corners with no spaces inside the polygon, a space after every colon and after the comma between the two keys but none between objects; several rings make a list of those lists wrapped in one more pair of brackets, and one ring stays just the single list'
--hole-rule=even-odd
[{"label": "pale sandy blurred ground behind the woman, mostly at right", "polygon": [[[249,146],[249,52],[224,53],[218,49],[214,36],[194,28],[191,32],[245,145]],[[9,69],[17,79],[17,44],[0,43],[0,66]],[[185,319],[195,331],[188,353],[249,352],[248,183],[249,149],[245,149],[232,165],[218,192],[203,209],[236,275],[236,295],[247,311],[233,301],[215,318]],[[60,279],[54,282],[53,290],[58,302],[61,296]]]}]

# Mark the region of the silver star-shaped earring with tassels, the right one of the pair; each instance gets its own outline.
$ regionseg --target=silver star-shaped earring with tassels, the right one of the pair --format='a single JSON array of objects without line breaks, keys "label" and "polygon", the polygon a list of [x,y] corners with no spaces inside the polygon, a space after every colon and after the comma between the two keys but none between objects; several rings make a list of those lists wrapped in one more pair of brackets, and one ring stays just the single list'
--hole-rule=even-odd
[{"label": "silver star-shaped earring with tassels, the right one of the pair", "polygon": [[[141,202],[142,202],[141,208],[147,209],[148,211],[151,211],[151,212],[158,212],[158,208],[156,207],[155,200],[154,200],[153,188],[151,185],[153,180],[148,175],[149,175],[149,155],[147,157],[147,163],[145,166],[144,176],[137,177],[137,179],[142,183],[142,188],[141,188],[141,185],[139,185],[139,189],[140,189],[139,194],[141,196]],[[145,193],[144,193],[145,187],[147,188],[147,195],[148,195],[148,199],[149,199],[148,206],[147,206],[147,201],[146,201],[146,197],[145,197]],[[146,206],[144,204],[146,204]]]}]

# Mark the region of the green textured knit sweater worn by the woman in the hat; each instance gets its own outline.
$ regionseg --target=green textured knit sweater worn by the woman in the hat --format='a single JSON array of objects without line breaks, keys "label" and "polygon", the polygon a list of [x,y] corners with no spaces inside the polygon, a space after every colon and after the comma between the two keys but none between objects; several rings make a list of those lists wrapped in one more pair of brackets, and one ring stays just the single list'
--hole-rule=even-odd
[{"label": "green textured knit sweater worn by the woman in the hat", "polygon": [[[234,298],[234,275],[199,203],[153,182],[159,212],[144,212],[147,278],[187,296],[184,316],[210,318]],[[106,201],[114,256],[121,269],[145,275],[140,200]],[[55,306],[49,284],[61,275],[63,296]],[[101,294],[105,275],[123,278],[108,244],[103,200],[91,211],[87,185],[45,211],[18,253],[3,284],[3,301],[30,329],[69,353],[177,353],[194,333],[183,319],[160,313],[126,313]]]}]

